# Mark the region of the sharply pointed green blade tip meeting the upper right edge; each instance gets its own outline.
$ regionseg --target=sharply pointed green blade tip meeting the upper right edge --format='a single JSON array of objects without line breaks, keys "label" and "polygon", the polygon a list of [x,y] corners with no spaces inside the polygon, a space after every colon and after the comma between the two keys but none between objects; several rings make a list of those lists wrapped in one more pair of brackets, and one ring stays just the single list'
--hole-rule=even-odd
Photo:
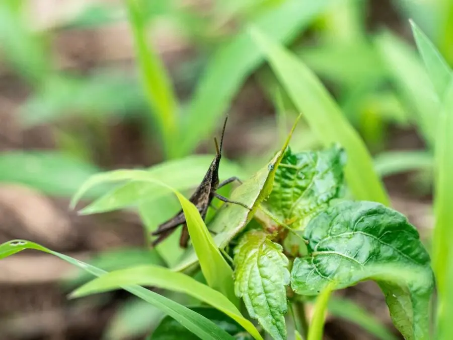
[{"label": "sharply pointed green blade tip meeting the upper right edge", "polygon": [[434,90],[436,91],[440,102],[442,102],[445,90],[451,79],[453,79],[453,73],[451,72],[450,66],[448,66],[445,59],[440,55],[439,51],[428,37],[412,20],[410,20],[410,23],[418,51],[425,63],[429,79],[431,79]]}]

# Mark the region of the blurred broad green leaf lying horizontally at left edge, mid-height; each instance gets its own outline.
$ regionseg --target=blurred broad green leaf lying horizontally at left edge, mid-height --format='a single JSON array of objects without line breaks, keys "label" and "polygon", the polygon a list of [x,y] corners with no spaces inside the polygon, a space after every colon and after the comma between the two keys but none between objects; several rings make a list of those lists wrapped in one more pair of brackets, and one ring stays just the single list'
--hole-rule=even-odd
[{"label": "blurred broad green leaf lying horizontally at left edge, mid-height", "polygon": [[[70,196],[100,170],[94,165],[57,151],[10,151],[0,155],[0,182],[29,185],[42,192]],[[106,187],[90,190],[99,196]]]}]

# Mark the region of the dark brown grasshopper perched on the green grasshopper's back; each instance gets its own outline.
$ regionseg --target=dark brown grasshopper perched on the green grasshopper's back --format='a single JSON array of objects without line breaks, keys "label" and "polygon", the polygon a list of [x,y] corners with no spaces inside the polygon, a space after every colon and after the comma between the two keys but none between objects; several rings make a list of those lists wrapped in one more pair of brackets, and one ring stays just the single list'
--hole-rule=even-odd
[{"label": "dark brown grasshopper perched on the green grasshopper's back", "polygon": [[[220,137],[220,147],[217,144],[217,139],[214,138],[216,155],[215,155],[214,159],[212,160],[212,163],[209,166],[209,169],[206,172],[206,175],[204,175],[204,178],[201,181],[201,184],[198,186],[198,188],[195,190],[195,192],[189,198],[189,200],[195,205],[195,207],[198,208],[198,211],[200,212],[201,218],[203,220],[206,218],[206,213],[207,213],[208,207],[210,206],[211,201],[214,197],[217,197],[218,199],[220,199],[224,202],[237,204],[248,210],[251,210],[244,203],[230,200],[226,197],[219,195],[216,192],[217,189],[219,189],[222,186],[229,184],[235,180],[242,183],[238,177],[231,177],[231,178],[225,179],[224,181],[222,181],[220,183],[218,180],[218,166],[219,166],[220,158],[221,158],[223,134],[225,133],[225,126],[226,126],[227,120],[228,120],[228,116],[226,116],[225,122],[223,123],[222,134]],[[157,244],[159,244],[160,242],[165,240],[180,225],[183,225],[183,230],[182,230],[181,238],[179,240],[179,244],[181,247],[186,248],[187,242],[189,241],[189,231],[187,229],[186,217],[184,216],[183,210],[181,210],[178,214],[176,214],[170,220],[162,223],[158,227],[158,229],[152,233],[153,236],[158,236],[158,238],[155,241],[153,241],[152,245],[156,246]]]}]

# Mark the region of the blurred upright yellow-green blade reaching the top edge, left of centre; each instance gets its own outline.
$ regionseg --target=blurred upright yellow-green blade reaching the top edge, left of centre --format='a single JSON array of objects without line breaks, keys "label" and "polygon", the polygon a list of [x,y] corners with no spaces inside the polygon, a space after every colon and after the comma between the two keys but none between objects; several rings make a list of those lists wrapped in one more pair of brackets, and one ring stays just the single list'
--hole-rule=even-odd
[{"label": "blurred upright yellow-green blade reaching the top edge, left of centre", "polygon": [[143,0],[126,1],[145,94],[159,122],[167,156],[173,157],[176,147],[174,140],[177,133],[178,101],[162,61],[147,43],[143,5]]}]

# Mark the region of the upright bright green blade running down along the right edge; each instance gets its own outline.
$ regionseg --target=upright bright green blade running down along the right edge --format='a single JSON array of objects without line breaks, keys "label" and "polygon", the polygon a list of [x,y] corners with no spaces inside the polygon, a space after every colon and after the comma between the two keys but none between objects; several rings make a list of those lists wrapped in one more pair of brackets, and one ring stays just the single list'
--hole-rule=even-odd
[{"label": "upright bright green blade running down along the right edge", "polygon": [[451,262],[453,237],[453,77],[445,91],[445,101],[439,116],[437,139],[434,150],[436,176],[434,184],[433,266],[439,294],[446,293]]}]

